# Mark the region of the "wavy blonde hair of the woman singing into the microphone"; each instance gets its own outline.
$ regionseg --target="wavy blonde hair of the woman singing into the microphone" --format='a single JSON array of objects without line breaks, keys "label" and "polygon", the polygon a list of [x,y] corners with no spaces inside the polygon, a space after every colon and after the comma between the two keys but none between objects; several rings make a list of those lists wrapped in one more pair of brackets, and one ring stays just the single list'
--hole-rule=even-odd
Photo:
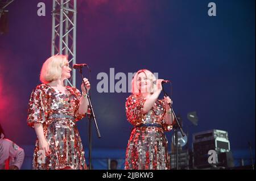
[{"label": "wavy blonde hair of the woman singing into the microphone", "polygon": [[152,90],[151,94],[152,94],[156,90],[156,85],[154,83],[154,81],[156,81],[156,77],[151,71],[149,71],[147,69],[138,70],[137,73],[134,75],[133,80],[131,81],[131,93],[132,94],[141,94],[141,91],[139,90],[138,82],[137,82],[137,77],[140,73],[144,73],[146,75],[146,77],[150,79],[151,86],[152,86],[152,89],[151,89]]}]

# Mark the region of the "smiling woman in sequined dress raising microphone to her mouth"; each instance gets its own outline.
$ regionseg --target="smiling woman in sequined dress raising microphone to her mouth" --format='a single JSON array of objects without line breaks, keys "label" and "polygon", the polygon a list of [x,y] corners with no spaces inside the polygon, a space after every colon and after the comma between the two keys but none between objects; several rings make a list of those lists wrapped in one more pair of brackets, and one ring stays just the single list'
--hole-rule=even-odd
[{"label": "smiling woman in sequined dress raising microphone to her mouth", "polygon": [[126,149],[125,169],[165,170],[170,168],[167,139],[174,115],[169,97],[159,100],[163,79],[151,71],[139,70],[132,81],[132,94],[126,100],[127,120],[134,126]]}]

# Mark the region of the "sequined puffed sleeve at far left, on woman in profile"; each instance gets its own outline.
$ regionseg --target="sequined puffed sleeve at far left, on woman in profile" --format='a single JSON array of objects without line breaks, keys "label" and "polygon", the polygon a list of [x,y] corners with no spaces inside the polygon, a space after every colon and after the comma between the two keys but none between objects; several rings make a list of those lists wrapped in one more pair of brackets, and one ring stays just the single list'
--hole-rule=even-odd
[{"label": "sequined puffed sleeve at far left, on woman in profile", "polygon": [[27,124],[34,128],[34,123],[45,123],[47,115],[47,96],[40,87],[36,87],[28,103]]}]

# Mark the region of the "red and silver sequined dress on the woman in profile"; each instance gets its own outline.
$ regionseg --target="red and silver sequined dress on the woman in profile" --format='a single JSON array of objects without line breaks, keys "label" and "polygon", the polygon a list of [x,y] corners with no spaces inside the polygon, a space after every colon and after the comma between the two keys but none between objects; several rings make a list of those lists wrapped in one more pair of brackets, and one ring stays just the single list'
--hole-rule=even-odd
[{"label": "red and silver sequined dress on the woman in profile", "polygon": [[51,154],[46,157],[39,150],[36,140],[33,169],[86,169],[84,149],[76,127],[76,121],[85,115],[78,112],[81,93],[75,87],[66,86],[69,94],[41,84],[32,91],[28,104],[27,124],[43,124],[44,136]]}]

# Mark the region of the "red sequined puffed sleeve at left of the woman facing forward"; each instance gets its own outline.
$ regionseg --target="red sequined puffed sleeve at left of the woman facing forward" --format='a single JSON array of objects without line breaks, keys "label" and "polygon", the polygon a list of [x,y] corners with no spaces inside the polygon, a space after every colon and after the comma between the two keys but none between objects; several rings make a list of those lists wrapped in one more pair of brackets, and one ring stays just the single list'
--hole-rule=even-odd
[{"label": "red sequined puffed sleeve at left of the woman facing forward", "polygon": [[138,95],[130,95],[126,99],[126,117],[127,120],[133,125],[139,125],[142,121],[142,110],[146,99]]}]

